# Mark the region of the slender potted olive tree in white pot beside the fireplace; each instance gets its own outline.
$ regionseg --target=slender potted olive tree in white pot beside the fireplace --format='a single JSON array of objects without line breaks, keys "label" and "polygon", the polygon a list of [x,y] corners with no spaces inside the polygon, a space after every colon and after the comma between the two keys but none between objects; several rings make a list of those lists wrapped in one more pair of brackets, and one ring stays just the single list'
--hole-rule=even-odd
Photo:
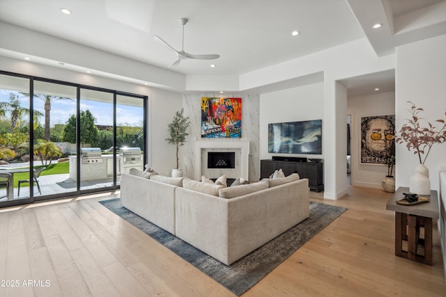
[{"label": "slender potted olive tree in white pot beside the fireplace", "polygon": [[166,138],[167,143],[176,145],[176,168],[172,169],[172,177],[182,177],[183,170],[179,167],[178,149],[186,143],[186,137],[189,135],[189,117],[184,116],[184,109],[176,111],[174,119],[167,125],[169,129],[169,138]]}]

